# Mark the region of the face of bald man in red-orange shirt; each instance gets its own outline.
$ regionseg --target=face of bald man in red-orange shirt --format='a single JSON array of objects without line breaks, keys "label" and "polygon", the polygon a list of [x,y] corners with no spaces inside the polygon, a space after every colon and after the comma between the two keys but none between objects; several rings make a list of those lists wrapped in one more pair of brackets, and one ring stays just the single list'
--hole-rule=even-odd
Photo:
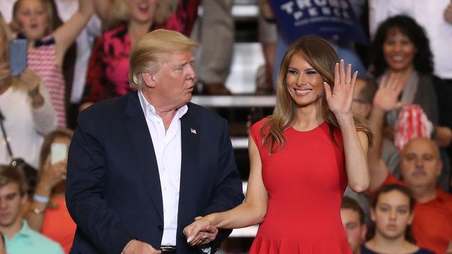
[{"label": "face of bald man in red-orange shirt", "polygon": [[415,138],[403,148],[401,173],[407,187],[434,187],[442,162],[433,141]]}]

